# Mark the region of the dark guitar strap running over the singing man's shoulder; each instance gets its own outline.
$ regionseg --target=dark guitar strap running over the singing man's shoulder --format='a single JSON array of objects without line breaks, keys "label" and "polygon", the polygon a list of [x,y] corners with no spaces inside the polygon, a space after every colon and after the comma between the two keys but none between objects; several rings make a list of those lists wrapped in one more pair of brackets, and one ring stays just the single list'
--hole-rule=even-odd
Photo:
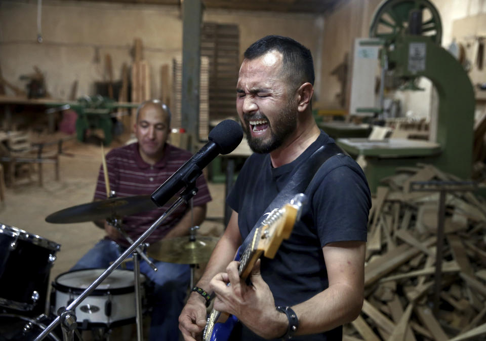
[{"label": "dark guitar strap running over the singing man's shoulder", "polygon": [[[327,143],[317,148],[317,150],[310,155],[309,159],[297,169],[297,171],[292,175],[290,181],[287,182],[284,188],[282,188],[282,190],[263,212],[270,212],[274,208],[282,207],[292,200],[296,194],[304,193],[310,183],[317,181],[315,174],[319,168],[331,157],[343,154],[345,154],[344,151],[336,143]],[[255,230],[261,226],[264,218],[265,213],[262,214],[262,216],[257,220],[257,223],[255,226],[253,226],[252,231],[250,231],[247,238],[245,238],[241,244],[239,248],[240,253],[246,249],[248,243],[250,243],[250,241],[253,239]]]}]

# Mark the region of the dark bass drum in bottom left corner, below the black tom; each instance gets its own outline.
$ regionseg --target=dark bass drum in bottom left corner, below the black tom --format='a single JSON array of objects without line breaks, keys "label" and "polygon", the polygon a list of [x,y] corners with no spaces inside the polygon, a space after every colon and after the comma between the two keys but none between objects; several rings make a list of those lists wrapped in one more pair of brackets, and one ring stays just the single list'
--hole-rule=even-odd
[{"label": "dark bass drum in bottom left corner, below the black tom", "polygon": [[[46,325],[39,322],[42,320],[41,317],[31,319],[14,314],[0,314],[0,341],[32,341],[46,329]],[[52,332],[44,340],[61,341]]]}]

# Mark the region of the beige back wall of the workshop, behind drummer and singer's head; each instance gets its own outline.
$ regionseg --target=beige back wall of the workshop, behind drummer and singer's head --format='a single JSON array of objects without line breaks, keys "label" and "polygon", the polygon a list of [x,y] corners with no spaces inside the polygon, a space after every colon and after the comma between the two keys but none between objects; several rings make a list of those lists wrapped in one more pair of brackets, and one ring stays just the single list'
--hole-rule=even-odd
[{"label": "beige back wall of the workshop, behind drummer and singer's head", "polygon": [[[44,0],[42,44],[36,41],[36,15],[36,1],[0,0],[0,66],[4,78],[21,88],[25,83],[19,76],[38,66],[55,98],[66,99],[75,80],[78,97],[93,94],[94,82],[107,80],[106,54],[112,59],[114,79],[121,79],[122,64],[133,61],[137,37],[143,40],[150,65],[152,97],[159,97],[161,65],[172,67],[172,59],[182,55],[179,7]],[[264,35],[281,34],[315,55],[323,34],[321,20],[316,15],[223,10],[205,10],[203,16],[205,22],[239,25],[241,53]]]}]

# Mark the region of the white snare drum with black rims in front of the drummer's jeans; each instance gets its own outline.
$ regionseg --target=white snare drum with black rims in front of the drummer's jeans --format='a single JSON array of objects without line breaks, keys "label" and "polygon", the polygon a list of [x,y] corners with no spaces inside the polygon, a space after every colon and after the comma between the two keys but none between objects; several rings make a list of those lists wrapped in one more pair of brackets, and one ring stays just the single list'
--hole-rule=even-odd
[{"label": "white snare drum with black rims in front of the drummer's jeans", "polygon": [[[75,270],[57,276],[52,283],[52,312],[57,315],[59,308],[71,304],[104,271],[105,269]],[[144,283],[145,275],[140,274],[141,302],[145,296]],[[137,315],[134,272],[115,269],[80,302],[75,314],[80,329],[134,323]]]}]

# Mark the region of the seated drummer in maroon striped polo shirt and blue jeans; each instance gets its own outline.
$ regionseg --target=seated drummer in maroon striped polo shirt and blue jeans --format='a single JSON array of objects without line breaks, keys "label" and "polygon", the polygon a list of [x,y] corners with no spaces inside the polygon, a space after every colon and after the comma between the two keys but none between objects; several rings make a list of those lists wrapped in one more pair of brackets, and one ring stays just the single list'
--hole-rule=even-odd
[{"label": "seated drummer in maroon striped polo shirt and blue jeans", "polygon": [[[134,125],[137,142],[112,149],[106,155],[110,190],[117,197],[149,195],[178,170],[191,154],[167,143],[170,133],[171,112],[159,100],[143,102],[137,109]],[[197,194],[193,197],[193,209],[181,205],[145,241],[152,244],[161,239],[189,234],[191,226],[199,225],[206,217],[206,203],[211,201],[204,176],[196,180]],[[95,200],[106,199],[103,169],[100,169],[95,191]],[[167,205],[167,204],[166,204]],[[167,207],[126,216],[123,229],[136,240],[163,214]],[[85,254],[71,270],[107,268],[130,244],[119,231],[106,221],[98,225],[106,236]],[[150,340],[177,341],[179,337],[178,317],[189,287],[188,264],[154,261],[158,271],[153,271],[145,260],[140,262],[140,271],[154,283]],[[133,263],[127,263],[133,269]]]}]

